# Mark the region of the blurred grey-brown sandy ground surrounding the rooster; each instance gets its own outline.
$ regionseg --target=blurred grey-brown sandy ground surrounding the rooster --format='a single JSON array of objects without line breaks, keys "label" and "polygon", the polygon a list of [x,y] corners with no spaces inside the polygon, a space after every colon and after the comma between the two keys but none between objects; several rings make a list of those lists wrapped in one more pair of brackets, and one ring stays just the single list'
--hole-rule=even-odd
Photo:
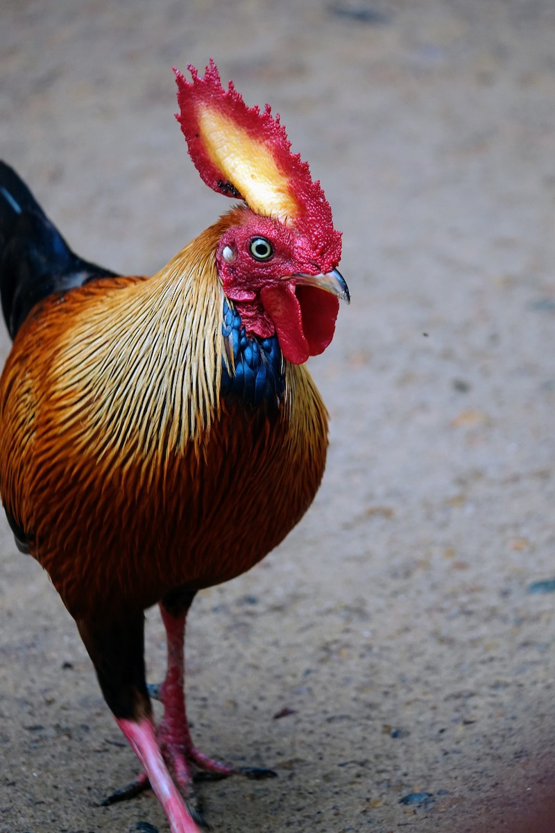
[{"label": "blurred grey-brown sandy ground surrounding the rooster", "polygon": [[[2,0],[0,155],[82,256],[154,272],[227,207],[172,116],[208,57],[344,231],[325,482],[191,614],[196,740],[279,773],[201,786],[217,833],[555,829],[554,43],[552,0]],[[0,831],[164,833],[98,806],[136,761],[0,523]]]}]

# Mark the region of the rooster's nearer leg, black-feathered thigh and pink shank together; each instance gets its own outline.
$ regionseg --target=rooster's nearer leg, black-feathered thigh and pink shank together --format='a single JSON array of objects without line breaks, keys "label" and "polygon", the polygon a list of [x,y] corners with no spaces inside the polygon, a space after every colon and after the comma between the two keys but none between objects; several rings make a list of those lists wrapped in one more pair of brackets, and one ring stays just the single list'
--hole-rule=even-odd
[{"label": "rooster's nearer leg, black-feathered thigh and pink shank together", "polygon": [[144,616],[127,614],[110,625],[78,621],[77,626],[97,671],[102,694],[116,723],[141,761],[144,775],[170,822],[171,833],[199,833],[169,771],[156,738],[151,701],[146,691]]}]

